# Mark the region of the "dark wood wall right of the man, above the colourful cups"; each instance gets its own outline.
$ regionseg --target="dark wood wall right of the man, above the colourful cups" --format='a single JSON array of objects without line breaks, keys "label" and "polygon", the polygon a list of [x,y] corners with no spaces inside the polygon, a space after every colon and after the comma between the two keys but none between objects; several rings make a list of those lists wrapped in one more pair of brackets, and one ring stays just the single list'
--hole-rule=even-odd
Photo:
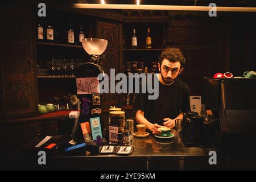
[{"label": "dark wood wall right of the man, above the colourful cups", "polygon": [[201,95],[201,78],[217,72],[242,76],[256,69],[255,13],[169,13],[168,45],[187,60],[181,75],[192,96]]}]

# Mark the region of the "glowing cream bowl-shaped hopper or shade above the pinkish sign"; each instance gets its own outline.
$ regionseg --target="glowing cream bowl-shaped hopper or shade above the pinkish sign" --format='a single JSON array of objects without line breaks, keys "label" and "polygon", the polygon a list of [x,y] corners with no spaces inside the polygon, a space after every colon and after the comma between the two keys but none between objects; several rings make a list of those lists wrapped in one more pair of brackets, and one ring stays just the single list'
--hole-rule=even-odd
[{"label": "glowing cream bowl-shaped hopper or shade above the pinkish sign", "polygon": [[101,55],[108,46],[106,39],[85,38],[82,39],[82,47],[89,55]]}]

